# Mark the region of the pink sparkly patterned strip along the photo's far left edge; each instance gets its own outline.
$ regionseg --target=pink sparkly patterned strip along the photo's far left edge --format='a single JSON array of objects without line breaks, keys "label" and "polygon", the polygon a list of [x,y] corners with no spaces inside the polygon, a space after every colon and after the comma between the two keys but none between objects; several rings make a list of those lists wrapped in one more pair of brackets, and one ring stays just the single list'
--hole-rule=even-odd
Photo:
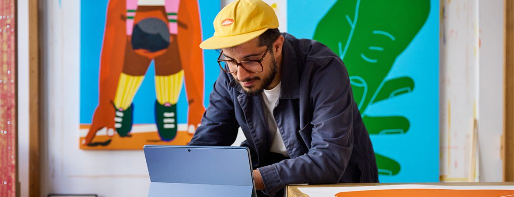
[{"label": "pink sparkly patterned strip along the photo's far left edge", "polygon": [[0,196],[16,196],[16,12],[0,3]]}]

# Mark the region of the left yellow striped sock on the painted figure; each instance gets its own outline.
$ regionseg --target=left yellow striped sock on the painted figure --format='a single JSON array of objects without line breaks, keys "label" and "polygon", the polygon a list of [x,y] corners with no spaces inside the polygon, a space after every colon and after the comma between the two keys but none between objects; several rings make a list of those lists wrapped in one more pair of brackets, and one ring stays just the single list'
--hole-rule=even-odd
[{"label": "left yellow striped sock on the painted figure", "polygon": [[139,85],[143,82],[144,75],[133,76],[125,73],[120,74],[116,96],[114,97],[114,105],[118,109],[127,109],[132,104],[134,95],[139,89]]}]

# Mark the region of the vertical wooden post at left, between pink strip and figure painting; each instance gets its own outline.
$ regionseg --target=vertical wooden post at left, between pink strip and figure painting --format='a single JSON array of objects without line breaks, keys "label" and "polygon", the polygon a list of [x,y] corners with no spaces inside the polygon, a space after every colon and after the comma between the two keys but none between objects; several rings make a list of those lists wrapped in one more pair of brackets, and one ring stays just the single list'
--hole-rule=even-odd
[{"label": "vertical wooden post at left, between pink strip and figure painting", "polygon": [[41,196],[39,1],[29,0],[29,196]]}]

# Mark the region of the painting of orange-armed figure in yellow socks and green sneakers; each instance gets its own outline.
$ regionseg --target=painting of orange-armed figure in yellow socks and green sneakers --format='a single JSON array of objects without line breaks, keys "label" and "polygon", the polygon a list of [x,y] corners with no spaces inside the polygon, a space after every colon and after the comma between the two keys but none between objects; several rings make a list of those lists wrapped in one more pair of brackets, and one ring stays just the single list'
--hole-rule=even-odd
[{"label": "painting of orange-armed figure in yellow socks and green sneakers", "polygon": [[[201,22],[213,21],[219,6],[213,1],[82,1],[81,148],[141,149],[191,140],[210,92],[205,88],[208,54],[198,45],[203,33],[213,30],[204,32],[212,25]],[[104,18],[94,20],[92,13]]]}]

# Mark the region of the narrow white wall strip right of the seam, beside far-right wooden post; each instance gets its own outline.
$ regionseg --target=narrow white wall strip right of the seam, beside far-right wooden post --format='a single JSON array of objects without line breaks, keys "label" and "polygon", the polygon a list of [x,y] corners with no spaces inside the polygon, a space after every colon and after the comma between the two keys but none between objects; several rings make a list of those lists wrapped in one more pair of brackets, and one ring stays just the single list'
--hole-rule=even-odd
[{"label": "narrow white wall strip right of the seam, beside far-right wooden post", "polygon": [[501,139],[505,130],[505,4],[480,1],[479,151],[480,181],[502,182]]}]

